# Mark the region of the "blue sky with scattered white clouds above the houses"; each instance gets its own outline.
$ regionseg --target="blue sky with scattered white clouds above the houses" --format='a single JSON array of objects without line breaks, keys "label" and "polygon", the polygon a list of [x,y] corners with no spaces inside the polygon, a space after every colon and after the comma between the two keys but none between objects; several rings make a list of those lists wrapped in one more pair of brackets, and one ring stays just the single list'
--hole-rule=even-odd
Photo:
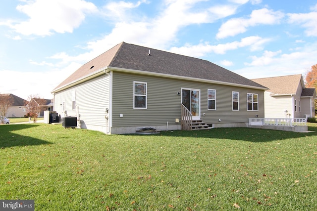
[{"label": "blue sky with scattered white clouds above the houses", "polygon": [[52,90],[120,42],[201,58],[248,79],[317,64],[316,0],[1,0],[0,93]]}]

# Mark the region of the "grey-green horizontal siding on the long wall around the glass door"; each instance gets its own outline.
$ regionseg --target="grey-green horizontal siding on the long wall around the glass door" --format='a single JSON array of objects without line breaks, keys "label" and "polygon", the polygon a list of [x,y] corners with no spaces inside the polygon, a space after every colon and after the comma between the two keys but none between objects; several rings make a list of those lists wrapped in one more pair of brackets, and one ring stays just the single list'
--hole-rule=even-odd
[{"label": "grey-green horizontal siding on the long wall around the glass door", "polygon": [[[147,109],[133,109],[134,81],[147,83]],[[221,123],[246,123],[256,115],[264,117],[264,90],[114,72],[112,127],[177,124],[175,119],[181,118],[177,92],[182,88],[200,89],[201,119],[208,124],[219,119]],[[216,110],[208,110],[208,89],[216,90]],[[239,111],[232,111],[232,91],[239,92]],[[259,111],[247,111],[247,93],[258,94]]]}]

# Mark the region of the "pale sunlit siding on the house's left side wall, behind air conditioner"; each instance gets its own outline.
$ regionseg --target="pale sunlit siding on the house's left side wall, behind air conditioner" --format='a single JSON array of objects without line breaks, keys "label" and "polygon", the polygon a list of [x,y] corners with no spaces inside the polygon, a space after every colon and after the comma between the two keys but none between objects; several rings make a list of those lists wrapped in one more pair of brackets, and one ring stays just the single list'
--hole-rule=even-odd
[{"label": "pale sunlit siding on the house's left side wall, behind air conditioner", "polygon": [[[109,107],[109,83],[108,76],[103,75],[82,84],[55,94],[55,109],[62,113],[62,106],[65,102],[65,109],[68,116],[80,115],[82,124],[89,126],[106,126],[106,108]],[[75,90],[75,110],[72,109],[72,92]]]}]

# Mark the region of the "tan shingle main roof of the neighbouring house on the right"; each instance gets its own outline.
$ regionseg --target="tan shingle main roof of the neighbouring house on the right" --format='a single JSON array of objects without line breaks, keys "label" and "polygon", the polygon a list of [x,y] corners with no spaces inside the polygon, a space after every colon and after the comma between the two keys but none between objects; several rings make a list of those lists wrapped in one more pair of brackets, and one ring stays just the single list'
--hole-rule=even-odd
[{"label": "tan shingle main roof of the neighbouring house on the right", "polygon": [[[295,94],[299,83],[304,83],[304,81],[302,82],[301,74],[251,80],[268,87],[269,89],[267,91],[274,94]],[[305,86],[303,88],[305,88]]]}]

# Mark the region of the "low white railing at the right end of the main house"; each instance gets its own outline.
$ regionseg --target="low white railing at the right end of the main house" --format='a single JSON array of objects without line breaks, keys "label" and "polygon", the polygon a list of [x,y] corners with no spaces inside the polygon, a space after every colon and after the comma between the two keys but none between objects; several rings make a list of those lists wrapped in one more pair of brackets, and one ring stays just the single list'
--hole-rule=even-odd
[{"label": "low white railing at the right end of the main house", "polygon": [[250,118],[251,126],[306,126],[306,118]]}]

